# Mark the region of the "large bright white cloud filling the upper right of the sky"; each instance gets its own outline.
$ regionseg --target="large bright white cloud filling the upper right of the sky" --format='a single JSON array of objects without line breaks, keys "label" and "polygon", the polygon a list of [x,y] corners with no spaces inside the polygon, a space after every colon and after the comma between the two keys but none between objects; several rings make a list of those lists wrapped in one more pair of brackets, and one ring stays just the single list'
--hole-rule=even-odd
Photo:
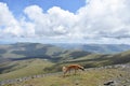
[{"label": "large bright white cloud filling the upper right of the sky", "polygon": [[126,3],[126,0],[89,0],[88,5],[78,11],[80,27],[84,28],[83,31],[98,34],[115,34],[122,29],[129,31],[126,22],[129,22],[130,6]]}]

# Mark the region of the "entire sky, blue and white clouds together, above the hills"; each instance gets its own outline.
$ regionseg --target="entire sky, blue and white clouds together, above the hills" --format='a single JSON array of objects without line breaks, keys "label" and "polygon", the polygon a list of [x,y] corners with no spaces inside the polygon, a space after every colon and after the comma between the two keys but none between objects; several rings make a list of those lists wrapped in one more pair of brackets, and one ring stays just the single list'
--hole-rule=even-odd
[{"label": "entire sky, blue and white clouds together, above the hills", "polygon": [[0,42],[130,44],[129,0],[0,0]]}]

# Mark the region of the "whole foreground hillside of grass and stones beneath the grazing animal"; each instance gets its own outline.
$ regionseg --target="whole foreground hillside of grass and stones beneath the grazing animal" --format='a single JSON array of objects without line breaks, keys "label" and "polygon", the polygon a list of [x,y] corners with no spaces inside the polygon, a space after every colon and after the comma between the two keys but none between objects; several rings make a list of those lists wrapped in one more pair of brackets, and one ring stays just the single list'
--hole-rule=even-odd
[{"label": "whole foreground hillside of grass and stones beneath the grazing animal", "polygon": [[65,77],[63,74],[52,74],[4,86],[129,86],[129,70],[121,67],[88,69],[78,71],[76,75],[73,72]]}]

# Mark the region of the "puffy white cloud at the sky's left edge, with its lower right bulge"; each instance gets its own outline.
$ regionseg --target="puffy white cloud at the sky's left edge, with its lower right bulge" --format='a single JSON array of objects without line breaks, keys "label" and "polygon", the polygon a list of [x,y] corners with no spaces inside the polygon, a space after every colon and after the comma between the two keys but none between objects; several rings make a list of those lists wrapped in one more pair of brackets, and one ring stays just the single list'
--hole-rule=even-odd
[{"label": "puffy white cloud at the sky's left edge, with its lower right bulge", "polygon": [[21,38],[32,34],[34,25],[24,19],[17,20],[5,3],[0,2],[0,37]]}]

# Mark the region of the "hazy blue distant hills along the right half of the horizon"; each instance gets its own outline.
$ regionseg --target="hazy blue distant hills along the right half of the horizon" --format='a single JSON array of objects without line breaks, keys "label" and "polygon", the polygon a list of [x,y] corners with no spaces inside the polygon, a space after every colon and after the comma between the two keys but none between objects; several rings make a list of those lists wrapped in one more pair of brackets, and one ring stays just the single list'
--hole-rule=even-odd
[{"label": "hazy blue distant hills along the right half of the horizon", "polygon": [[91,53],[115,54],[130,49],[128,44],[78,44],[78,43],[58,43],[53,44],[67,49],[82,49]]}]

